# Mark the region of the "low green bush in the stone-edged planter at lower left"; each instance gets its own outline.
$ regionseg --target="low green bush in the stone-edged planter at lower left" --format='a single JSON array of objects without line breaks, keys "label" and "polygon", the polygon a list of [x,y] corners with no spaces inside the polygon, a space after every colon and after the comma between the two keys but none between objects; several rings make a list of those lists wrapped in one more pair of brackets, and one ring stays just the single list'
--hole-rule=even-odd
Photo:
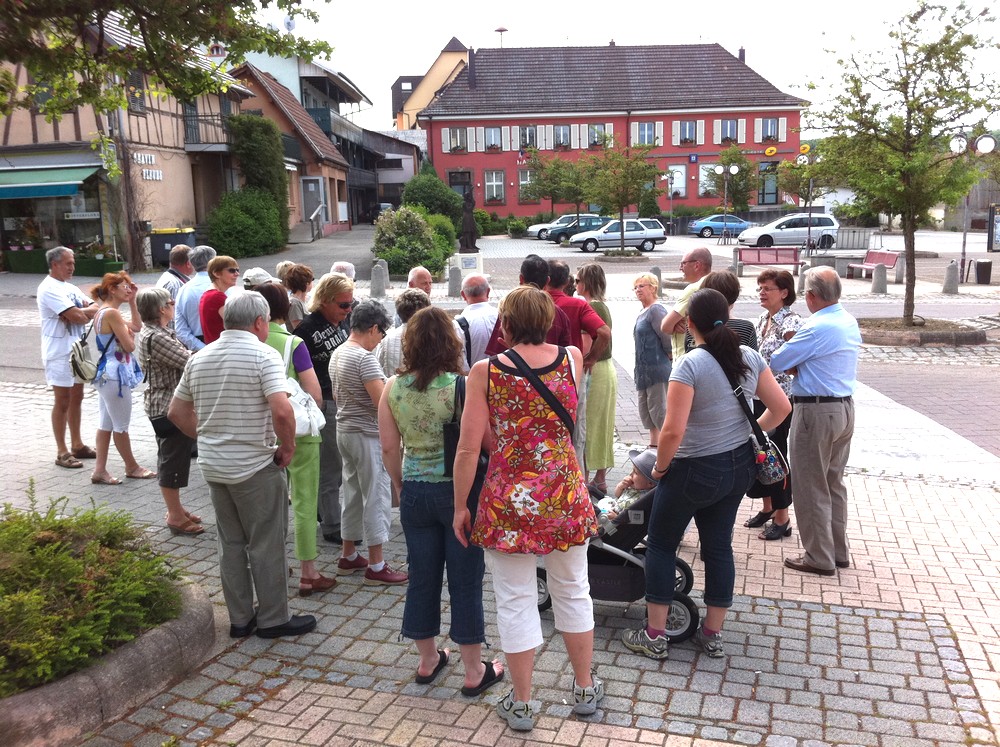
[{"label": "low green bush in the stone-edged planter at lower left", "polygon": [[0,512],[0,697],[51,682],[180,613],[176,571],[124,512]]}]

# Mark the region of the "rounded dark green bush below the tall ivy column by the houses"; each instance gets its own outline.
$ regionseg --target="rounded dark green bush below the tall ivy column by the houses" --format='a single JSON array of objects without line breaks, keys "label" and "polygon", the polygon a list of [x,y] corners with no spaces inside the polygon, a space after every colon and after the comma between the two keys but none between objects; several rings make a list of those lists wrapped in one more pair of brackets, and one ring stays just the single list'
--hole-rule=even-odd
[{"label": "rounded dark green bush below the tall ivy column by the houses", "polygon": [[285,246],[285,232],[274,198],[261,189],[230,192],[208,215],[208,240],[219,254],[259,257]]}]

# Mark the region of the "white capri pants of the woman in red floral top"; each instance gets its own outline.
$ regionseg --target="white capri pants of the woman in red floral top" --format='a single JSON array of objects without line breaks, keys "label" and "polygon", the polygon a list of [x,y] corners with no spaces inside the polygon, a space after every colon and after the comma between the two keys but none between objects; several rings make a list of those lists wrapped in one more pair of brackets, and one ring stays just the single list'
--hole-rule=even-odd
[{"label": "white capri pants of the woman in red floral top", "polygon": [[[587,545],[543,555],[542,564],[548,575],[556,630],[560,633],[593,630],[594,602],[587,578]],[[542,645],[542,621],[538,616],[535,582],[537,557],[487,550],[486,565],[493,576],[500,648],[506,654],[538,648]]]}]

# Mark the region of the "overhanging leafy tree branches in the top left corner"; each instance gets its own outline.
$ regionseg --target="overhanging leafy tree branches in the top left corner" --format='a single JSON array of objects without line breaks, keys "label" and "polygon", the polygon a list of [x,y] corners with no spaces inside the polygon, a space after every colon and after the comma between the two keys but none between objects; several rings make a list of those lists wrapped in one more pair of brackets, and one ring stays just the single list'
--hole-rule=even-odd
[{"label": "overhanging leafy tree branches in the top left corner", "polygon": [[[319,20],[301,0],[275,0],[291,18]],[[150,90],[181,101],[220,88],[218,70],[235,67],[248,52],[312,59],[330,46],[262,26],[257,0],[8,0],[0,3],[2,56],[24,65],[36,83],[19,89],[9,68],[0,69],[0,115],[40,109],[58,119],[78,106],[109,112],[127,101],[124,81],[147,73]],[[265,3],[267,5],[267,3]],[[122,43],[119,28],[131,33]],[[204,52],[218,43],[226,58],[205,64]],[[193,64],[198,60],[200,64]],[[109,84],[109,81],[111,82]],[[116,84],[115,81],[118,83]]]}]

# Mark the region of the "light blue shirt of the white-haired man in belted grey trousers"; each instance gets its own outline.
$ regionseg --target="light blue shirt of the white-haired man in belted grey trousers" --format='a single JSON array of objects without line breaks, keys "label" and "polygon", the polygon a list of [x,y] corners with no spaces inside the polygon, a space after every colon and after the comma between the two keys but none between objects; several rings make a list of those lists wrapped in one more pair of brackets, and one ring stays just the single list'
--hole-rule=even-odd
[{"label": "light blue shirt of the white-haired man in belted grey trousers", "polygon": [[771,369],[798,370],[792,396],[850,397],[858,385],[858,320],[839,303],[820,309],[771,354]]}]

